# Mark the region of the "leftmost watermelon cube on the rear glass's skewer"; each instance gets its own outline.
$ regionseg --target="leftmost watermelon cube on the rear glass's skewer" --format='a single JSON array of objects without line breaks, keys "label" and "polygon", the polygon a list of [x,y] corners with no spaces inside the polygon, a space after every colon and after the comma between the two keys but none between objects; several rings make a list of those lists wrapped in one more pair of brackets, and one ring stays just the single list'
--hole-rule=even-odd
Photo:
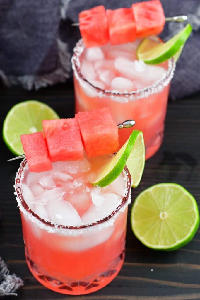
[{"label": "leftmost watermelon cube on the rear glass's skewer", "polygon": [[86,48],[109,42],[108,21],[103,5],[79,13],[79,29]]}]

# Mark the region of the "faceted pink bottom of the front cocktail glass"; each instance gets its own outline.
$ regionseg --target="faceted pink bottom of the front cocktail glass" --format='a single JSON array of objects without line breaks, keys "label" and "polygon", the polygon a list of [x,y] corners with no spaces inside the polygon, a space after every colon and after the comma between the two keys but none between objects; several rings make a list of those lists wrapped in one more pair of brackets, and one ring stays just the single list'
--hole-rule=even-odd
[{"label": "faceted pink bottom of the front cocktail glass", "polygon": [[125,249],[123,252],[112,262],[115,266],[110,270],[99,274],[99,276],[92,281],[77,281],[77,282],[61,282],[56,278],[41,274],[38,271],[37,265],[28,256],[27,249],[25,247],[25,258],[31,273],[41,284],[46,286],[48,289],[52,289],[55,292],[66,294],[66,295],[84,295],[92,292],[96,292],[98,289],[103,288],[110,283],[119,273],[125,257]]}]

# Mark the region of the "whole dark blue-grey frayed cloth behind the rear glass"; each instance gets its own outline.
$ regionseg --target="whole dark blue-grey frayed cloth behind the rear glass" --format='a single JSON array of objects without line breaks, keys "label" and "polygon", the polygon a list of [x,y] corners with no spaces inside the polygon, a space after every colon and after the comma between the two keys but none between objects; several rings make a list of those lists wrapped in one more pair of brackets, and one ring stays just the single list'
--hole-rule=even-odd
[{"label": "whole dark blue-grey frayed cloth behind the rear glass", "polygon": [[[7,85],[40,88],[64,82],[70,73],[70,54],[80,38],[78,13],[100,4],[130,7],[136,0],[0,0],[0,77]],[[200,91],[200,2],[161,0],[166,16],[187,14],[194,30],[177,62],[171,98]],[[161,38],[168,40],[186,23],[167,22]],[[68,52],[69,49],[69,52]]]}]

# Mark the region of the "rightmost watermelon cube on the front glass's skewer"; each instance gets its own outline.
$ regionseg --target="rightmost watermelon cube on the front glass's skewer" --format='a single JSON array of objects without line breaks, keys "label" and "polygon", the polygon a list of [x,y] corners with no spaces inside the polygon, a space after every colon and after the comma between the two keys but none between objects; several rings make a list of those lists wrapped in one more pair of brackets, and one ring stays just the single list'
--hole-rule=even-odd
[{"label": "rightmost watermelon cube on the front glass's skewer", "polygon": [[88,157],[111,154],[119,149],[118,128],[109,108],[78,112],[75,117]]}]

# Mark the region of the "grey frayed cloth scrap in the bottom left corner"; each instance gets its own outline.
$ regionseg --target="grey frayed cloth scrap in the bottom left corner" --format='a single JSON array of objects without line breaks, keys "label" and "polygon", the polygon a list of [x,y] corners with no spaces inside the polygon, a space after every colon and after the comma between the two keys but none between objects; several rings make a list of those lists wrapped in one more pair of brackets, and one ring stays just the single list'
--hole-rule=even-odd
[{"label": "grey frayed cloth scrap in the bottom left corner", "polygon": [[9,275],[7,265],[0,257],[0,297],[7,295],[17,296],[15,291],[22,285],[24,285],[23,281],[16,274]]}]

